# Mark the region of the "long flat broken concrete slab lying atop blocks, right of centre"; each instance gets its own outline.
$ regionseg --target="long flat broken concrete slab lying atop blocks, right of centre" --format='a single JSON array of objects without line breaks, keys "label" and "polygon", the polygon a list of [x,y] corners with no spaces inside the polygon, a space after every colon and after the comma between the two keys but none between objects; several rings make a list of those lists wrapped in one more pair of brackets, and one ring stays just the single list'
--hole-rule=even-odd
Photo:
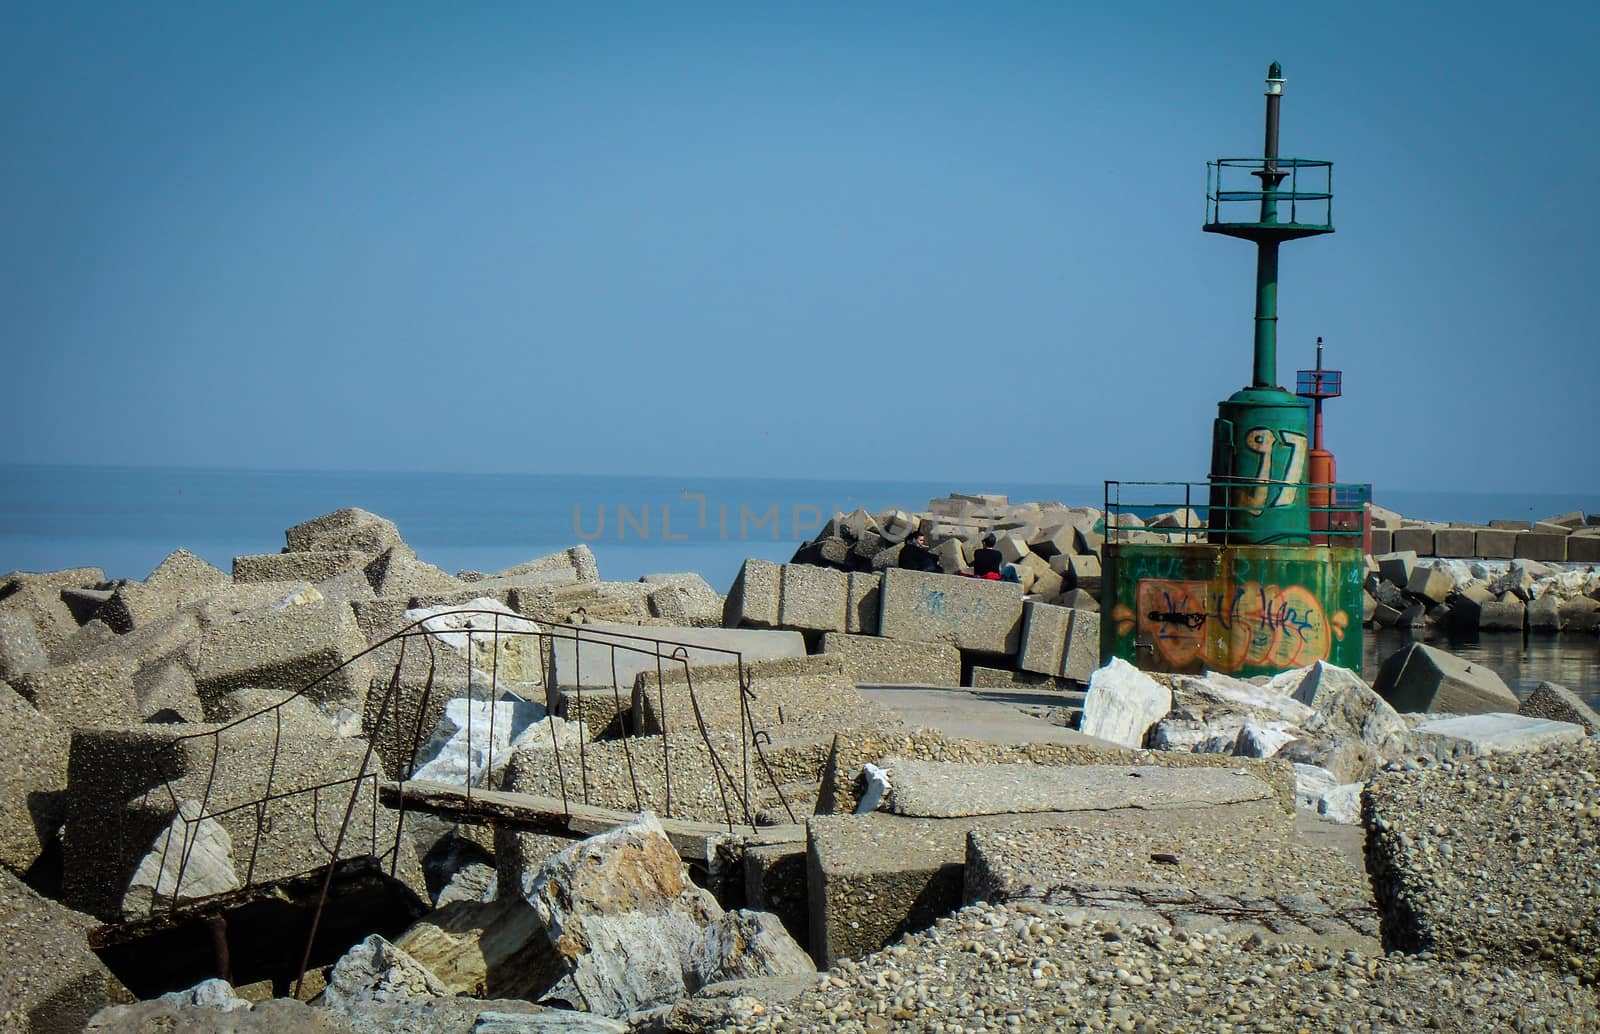
[{"label": "long flat broken concrete slab lying atop blocks, right of centre", "polygon": [[[888,807],[915,818],[1035,812],[1184,812],[1272,800],[1261,780],[1226,768],[979,765],[890,757]],[[1278,808],[1282,810],[1282,808]]]}]

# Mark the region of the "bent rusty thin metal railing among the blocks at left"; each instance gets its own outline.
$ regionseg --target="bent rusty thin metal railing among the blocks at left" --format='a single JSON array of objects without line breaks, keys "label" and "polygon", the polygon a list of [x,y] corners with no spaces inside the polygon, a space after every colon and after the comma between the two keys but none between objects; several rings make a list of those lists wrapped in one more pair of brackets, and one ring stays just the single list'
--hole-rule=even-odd
[{"label": "bent rusty thin metal railing among the blocks at left", "polygon": [[[437,624],[429,627],[429,623],[435,623],[438,618],[467,618],[469,623],[464,627],[448,627],[440,629]],[[480,623],[482,626],[475,624]],[[123,808],[123,823],[118,829],[118,858],[126,864],[128,855],[128,836],[131,834],[131,826],[134,823],[130,820],[131,815],[144,813],[147,816],[163,816],[162,821],[168,821],[165,826],[165,836],[162,829],[155,831],[154,842],[138,840],[134,845],[141,847],[144,844],[152,844],[150,855],[158,852],[158,864],[155,868],[157,879],[155,887],[150,892],[150,903],[146,909],[144,917],[154,917],[158,912],[178,914],[198,909],[214,909],[224,908],[229,900],[246,895],[251,888],[278,884],[294,877],[304,877],[318,871],[325,871],[322,900],[318,901],[315,917],[312,920],[312,933],[307,938],[307,959],[310,952],[312,941],[317,935],[317,922],[320,920],[323,904],[326,903],[330,887],[333,882],[334,869],[341,861],[341,853],[350,845],[352,836],[363,836],[357,842],[358,855],[373,856],[379,866],[387,866],[389,876],[394,877],[400,866],[402,856],[402,837],[405,828],[405,797],[402,796],[397,802],[392,818],[392,836],[389,836],[389,821],[379,820],[379,786],[386,781],[397,780],[400,783],[413,778],[418,763],[418,751],[429,736],[432,727],[427,723],[427,715],[430,711],[430,703],[434,703],[435,691],[442,690],[437,685],[438,677],[438,643],[435,639],[442,639],[445,634],[461,634],[466,632],[466,650],[462,659],[466,661],[466,687],[462,696],[467,698],[469,706],[466,707],[466,738],[467,738],[467,768],[464,778],[466,807],[470,812],[470,800],[474,792],[474,763],[472,763],[472,746],[477,741],[474,735],[474,707],[470,703],[477,699],[478,690],[474,687],[474,651],[486,648],[490,650],[490,667],[486,672],[477,671],[478,675],[486,675],[488,690],[485,693],[490,707],[490,728],[486,736],[486,754],[483,757],[483,781],[486,788],[491,788],[494,765],[494,722],[496,722],[496,701],[502,699],[502,683],[499,677],[499,661],[501,661],[501,642],[504,637],[520,637],[523,642],[530,642],[539,650],[539,682],[538,685],[546,690],[546,717],[554,715],[555,696],[554,693],[560,688],[557,687],[555,672],[555,647],[557,643],[571,643],[574,667],[573,667],[573,685],[568,690],[573,693],[573,704],[576,707],[578,720],[587,714],[584,709],[584,691],[603,691],[610,688],[611,704],[616,712],[627,714],[632,709],[634,687],[629,685],[629,703],[624,706],[621,679],[618,677],[618,655],[643,655],[654,659],[654,679],[646,679],[654,683],[656,691],[656,725],[659,733],[659,749],[662,759],[662,792],[664,792],[664,812],[666,818],[672,818],[672,736],[674,728],[669,722],[667,698],[669,693],[682,693],[686,696],[690,704],[690,712],[694,715],[696,731],[699,735],[699,743],[704,746],[710,759],[710,767],[714,778],[718,784],[718,796],[722,802],[722,823],[726,824],[728,831],[733,832],[736,826],[755,826],[755,792],[760,786],[752,786],[752,754],[755,757],[755,765],[760,773],[765,775],[765,784],[771,789],[776,800],[787,812],[789,820],[795,821],[794,810],[789,807],[789,800],[778,783],[778,778],[771,768],[771,763],[763,751],[763,741],[770,743],[771,736],[765,730],[758,730],[755,725],[755,715],[750,709],[750,701],[755,699],[755,691],[752,688],[750,669],[744,661],[744,656],[738,650],[728,650],[722,647],[710,647],[702,643],[682,643],[667,639],[659,639],[648,635],[646,626],[640,627],[640,634],[621,632],[614,627],[605,631],[590,631],[582,624],[574,626],[552,626],[539,627],[531,621],[510,615],[499,610],[477,610],[470,607],[453,608],[448,611],[440,611],[429,615],[427,618],[419,618],[403,629],[394,632],[392,635],[371,643],[366,650],[344,659],[341,664],[330,667],[322,675],[312,679],[299,690],[285,696],[275,704],[261,707],[251,714],[242,715],[224,725],[208,728],[205,731],[195,731],[189,735],[181,735],[166,743],[158,749],[149,765],[147,771],[142,773],[141,786],[147,786],[142,797],[136,797],[128,802]],[[477,643],[478,637],[486,637],[490,642],[486,647]],[[422,667],[422,683],[421,696],[414,704],[413,715],[402,714],[402,691],[405,688],[406,674],[406,651],[411,647],[411,640],[422,640],[422,647],[427,648],[427,661]],[[363,711],[363,731],[365,746],[362,747],[360,763],[354,775],[344,775],[341,778],[317,781],[306,786],[283,786],[280,784],[285,776],[280,775],[280,762],[285,752],[285,715],[290,706],[298,703],[314,701],[318,687],[334,680],[344,669],[360,664],[362,661],[379,656],[390,647],[398,645],[397,656],[394,661],[394,669],[390,671],[381,698],[376,701],[376,714],[371,720],[366,720],[366,714],[373,712],[371,693],[376,690],[378,680],[371,680],[371,687],[365,693],[365,711]],[[610,685],[608,687],[584,687],[582,679],[582,663],[586,647],[602,648],[610,658]],[[714,659],[723,659],[725,664],[733,666],[736,680],[734,690],[738,693],[738,741],[739,741],[739,775],[731,771],[730,760],[722,755],[718,746],[712,736],[710,728],[706,723],[706,717],[701,707],[699,690],[694,685],[696,666],[709,666]],[[678,674],[678,679],[669,677],[669,672]],[[648,669],[646,669],[648,674]],[[533,680],[522,680],[520,685],[533,685]],[[648,691],[648,690],[646,690]],[[450,699],[448,696],[445,698]],[[442,707],[440,707],[442,711]],[[410,720],[408,720],[410,719]],[[218,791],[218,775],[219,767],[229,763],[224,751],[224,741],[230,735],[238,735],[242,731],[258,731],[264,723],[272,723],[270,747],[267,747],[267,760],[264,765],[264,781],[261,792],[248,800],[230,800],[216,802],[213,810],[213,797]],[[552,762],[555,765],[555,781],[560,788],[562,808],[566,818],[571,818],[573,796],[568,792],[566,771],[570,767],[576,767],[576,789],[584,804],[590,799],[590,781],[589,781],[589,760],[587,760],[587,730],[579,730],[576,736],[576,759],[571,757],[573,751],[570,746],[562,743],[557,735],[557,723],[547,722],[550,727],[550,747]],[[334,736],[334,730],[330,728],[330,736]],[[635,768],[635,751],[646,746],[648,736],[634,736],[632,730],[622,738],[622,751],[626,757],[626,767],[629,781],[632,784],[632,796],[635,810],[643,810],[643,796],[640,794],[638,771]],[[392,773],[384,771],[381,747],[387,741],[389,747],[394,751],[392,759],[398,763],[398,770]],[[728,741],[723,739],[723,746]],[[507,739],[507,751],[514,749],[514,743]],[[195,770],[195,765],[189,763],[198,757],[200,765],[205,767],[206,773],[202,780],[198,796],[190,796],[181,792],[181,781],[186,775]],[[573,765],[576,762],[576,765]],[[165,799],[163,799],[165,796]],[[731,796],[731,797],[730,797]],[[187,800],[195,800],[198,808],[190,808],[192,815],[184,813],[184,804]],[[310,839],[320,847],[317,852],[315,864],[301,868],[298,871],[272,871],[262,874],[259,871],[259,858],[262,853],[262,845],[269,836],[274,834],[274,816],[290,816],[291,802],[299,802],[309,805],[309,824]],[[360,805],[365,802],[365,815],[358,815]],[[144,805],[141,808],[141,805]],[[331,844],[323,832],[323,810],[331,808],[339,815],[338,828],[333,831]],[[238,820],[243,816],[243,821]],[[360,820],[360,823],[357,821]],[[194,863],[194,853],[202,840],[202,823],[230,823],[235,834],[242,829],[250,839],[248,847],[248,863],[245,864],[243,879],[237,887],[222,893],[208,895],[184,895],[184,877]],[[493,821],[488,816],[485,821]],[[357,826],[365,826],[365,831],[358,831]],[[149,823],[142,824],[142,832],[149,832],[152,826]],[[282,831],[278,831],[282,832]],[[141,836],[133,832],[131,836]],[[382,842],[381,842],[382,840]],[[178,856],[173,856],[173,852]],[[242,850],[235,845],[232,852],[234,858],[242,856]],[[346,858],[355,858],[357,853],[346,855]],[[165,880],[168,874],[168,866],[173,866],[173,879]],[[166,887],[166,893],[160,893],[162,887]],[[123,914],[125,920],[138,919],[134,916]],[[302,965],[304,970],[304,965]]]}]

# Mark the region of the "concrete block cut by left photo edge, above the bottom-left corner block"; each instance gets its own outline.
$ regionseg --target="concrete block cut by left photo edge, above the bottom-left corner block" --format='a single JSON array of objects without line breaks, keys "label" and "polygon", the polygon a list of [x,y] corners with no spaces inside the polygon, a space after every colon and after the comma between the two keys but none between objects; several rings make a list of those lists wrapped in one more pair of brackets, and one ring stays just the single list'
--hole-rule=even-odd
[{"label": "concrete block cut by left photo edge, above the bottom-left corner block", "polygon": [[67,730],[0,683],[0,866],[27,872],[66,818]]}]

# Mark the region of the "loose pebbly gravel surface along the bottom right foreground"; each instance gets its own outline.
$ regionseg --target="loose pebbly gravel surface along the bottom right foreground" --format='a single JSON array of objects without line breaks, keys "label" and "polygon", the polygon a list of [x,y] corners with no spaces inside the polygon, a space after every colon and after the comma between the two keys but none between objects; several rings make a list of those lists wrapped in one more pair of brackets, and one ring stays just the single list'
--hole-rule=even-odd
[{"label": "loose pebbly gravel surface along the bottom right foreground", "polygon": [[1379,956],[978,904],[720,1031],[1573,1031],[1595,994],[1547,970]]}]

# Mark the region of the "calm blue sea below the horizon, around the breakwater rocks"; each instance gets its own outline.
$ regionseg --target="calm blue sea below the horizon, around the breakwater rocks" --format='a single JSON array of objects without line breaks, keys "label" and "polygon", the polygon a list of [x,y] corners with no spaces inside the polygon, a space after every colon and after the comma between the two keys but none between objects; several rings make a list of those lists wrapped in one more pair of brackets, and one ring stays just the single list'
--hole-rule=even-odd
[{"label": "calm blue sea below the horizon, around the breakwater rocks", "polygon": [[[418,557],[451,573],[491,573],[586,543],[602,578],[696,571],[725,592],[747,557],[787,560],[834,512],[918,511],[952,490],[1096,507],[1107,491],[1070,482],[0,464],[0,571],[98,567],[112,579],[144,578],[174,549],[227,571],[237,555],[282,551],[285,528],[357,506],[394,520]],[[1600,493],[1379,485],[1373,501],[1424,520],[1600,512]],[[1390,631],[1368,631],[1368,677],[1406,642]],[[1600,704],[1600,637],[1483,634],[1438,645],[1488,664],[1518,693],[1550,680]]]}]

